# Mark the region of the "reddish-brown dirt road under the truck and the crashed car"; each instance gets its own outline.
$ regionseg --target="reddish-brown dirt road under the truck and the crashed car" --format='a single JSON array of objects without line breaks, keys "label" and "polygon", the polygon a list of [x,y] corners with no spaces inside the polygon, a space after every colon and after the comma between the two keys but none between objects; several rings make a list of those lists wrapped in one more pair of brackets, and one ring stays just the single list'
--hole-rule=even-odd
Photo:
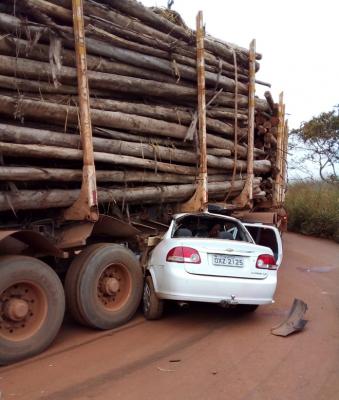
[{"label": "reddish-brown dirt road under the truck and the crashed car", "polygon": [[[93,332],[66,322],[44,354],[0,368],[7,399],[339,399],[339,245],[288,234],[276,303],[253,315],[171,308]],[[309,323],[288,338],[270,328],[294,297]]]}]

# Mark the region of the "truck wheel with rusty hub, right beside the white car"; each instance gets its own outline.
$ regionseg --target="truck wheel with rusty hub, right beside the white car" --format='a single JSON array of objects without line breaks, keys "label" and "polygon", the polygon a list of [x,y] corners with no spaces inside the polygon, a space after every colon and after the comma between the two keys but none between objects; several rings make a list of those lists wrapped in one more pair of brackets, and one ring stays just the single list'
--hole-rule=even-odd
[{"label": "truck wheel with rusty hub, right beside the white car", "polygon": [[112,329],[135,314],[142,296],[142,271],[127,248],[94,244],[72,262],[65,282],[70,313],[83,325]]}]

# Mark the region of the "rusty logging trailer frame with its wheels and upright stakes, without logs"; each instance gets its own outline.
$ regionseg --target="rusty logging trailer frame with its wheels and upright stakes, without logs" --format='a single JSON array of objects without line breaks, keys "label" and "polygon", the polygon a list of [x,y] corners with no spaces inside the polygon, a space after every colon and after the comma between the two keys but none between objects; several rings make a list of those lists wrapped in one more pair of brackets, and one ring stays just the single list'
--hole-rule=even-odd
[{"label": "rusty logging trailer frame with its wheels and upright stakes, without logs", "polygon": [[[73,3],[76,10],[82,10],[80,0],[73,0]],[[199,43],[203,43],[202,19],[199,24],[198,57],[201,54]],[[161,232],[168,229],[171,214],[207,210],[204,69],[199,67],[200,162],[193,197],[183,204],[176,204],[176,209],[166,210],[163,214],[167,214],[167,221],[148,218],[145,222],[139,218],[139,222],[130,223],[99,213],[81,15],[74,18],[74,37],[83,150],[80,195],[71,207],[61,212],[38,210],[30,214],[29,220],[21,218],[14,224],[3,222],[1,217],[0,365],[46,349],[60,329],[66,304],[77,322],[92,328],[112,329],[128,321],[140,304],[148,253],[158,243]],[[251,54],[254,71],[255,49]],[[199,60],[198,65],[202,65]],[[253,87],[254,79],[249,85],[250,96],[254,99]],[[253,131],[254,101],[251,104],[249,133]],[[253,150],[253,136],[250,134],[248,149]],[[246,216],[242,210],[248,210],[252,199],[253,151],[248,151],[248,162],[248,178],[240,196],[242,205],[231,211],[241,210],[241,215],[234,215],[243,220],[252,218],[252,222],[274,223],[277,221],[275,210],[261,216],[257,214],[255,219],[254,214],[248,215],[247,212]],[[283,181],[279,185],[277,187],[282,188]]]}]

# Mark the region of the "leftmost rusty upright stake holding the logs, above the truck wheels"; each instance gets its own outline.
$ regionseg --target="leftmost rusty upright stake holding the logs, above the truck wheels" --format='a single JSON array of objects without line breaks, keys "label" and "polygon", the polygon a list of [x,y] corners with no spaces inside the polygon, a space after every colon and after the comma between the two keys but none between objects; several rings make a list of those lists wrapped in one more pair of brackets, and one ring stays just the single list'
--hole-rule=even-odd
[{"label": "leftmost rusty upright stake holding the logs, above the truck wheels", "polygon": [[79,198],[64,212],[64,218],[66,220],[89,220],[94,222],[98,220],[99,212],[93,155],[82,0],[72,0],[72,7],[78,77],[80,134],[83,149],[83,178]]}]

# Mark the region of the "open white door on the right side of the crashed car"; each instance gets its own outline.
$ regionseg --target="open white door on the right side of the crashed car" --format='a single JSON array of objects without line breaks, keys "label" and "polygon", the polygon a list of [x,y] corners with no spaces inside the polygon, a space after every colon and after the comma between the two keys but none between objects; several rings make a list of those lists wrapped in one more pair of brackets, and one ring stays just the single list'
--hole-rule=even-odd
[{"label": "open white door on the right side of the crashed car", "polygon": [[269,247],[274,254],[275,261],[280,266],[283,258],[282,240],[275,226],[260,223],[243,222],[256,244]]}]

